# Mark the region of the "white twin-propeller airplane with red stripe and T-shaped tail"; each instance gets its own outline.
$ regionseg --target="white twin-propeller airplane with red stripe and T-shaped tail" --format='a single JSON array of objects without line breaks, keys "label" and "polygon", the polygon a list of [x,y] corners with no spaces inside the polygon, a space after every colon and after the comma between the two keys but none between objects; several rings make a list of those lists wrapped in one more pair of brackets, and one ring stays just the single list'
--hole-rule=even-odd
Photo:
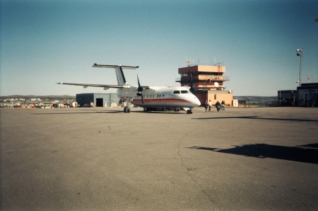
[{"label": "white twin-propeller airplane with red stripe and T-shaped tail", "polygon": [[74,84],[74,83],[57,83],[64,85],[75,85],[93,87],[103,87],[104,90],[114,88],[117,90],[117,96],[126,101],[124,113],[130,113],[130,105],[137,105],[143,108],[143,111],[165,110],[173,108],[179,111],[180,108],[187,110],[187,114],[192,113],[192,108],[201,105],[200,101],[194,94],[185,86],[141,86],[137,75],[138,86],[131,86],[126,83],[123,69],[137,69],[139,66],[123,66],[93,64],[93,67],[114,68],[117,76],[117,85],[103,84]]}]

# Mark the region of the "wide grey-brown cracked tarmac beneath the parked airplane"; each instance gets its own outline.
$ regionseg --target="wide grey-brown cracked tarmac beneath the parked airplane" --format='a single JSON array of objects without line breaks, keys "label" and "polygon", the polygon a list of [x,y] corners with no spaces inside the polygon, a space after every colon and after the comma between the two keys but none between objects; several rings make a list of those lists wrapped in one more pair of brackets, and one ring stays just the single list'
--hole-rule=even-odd
[{"label": "wide grey-brown cracked tarmac beneath the parked airplane", "polygon": [[0,210],[318,210],[318,108],[0,115]]}]

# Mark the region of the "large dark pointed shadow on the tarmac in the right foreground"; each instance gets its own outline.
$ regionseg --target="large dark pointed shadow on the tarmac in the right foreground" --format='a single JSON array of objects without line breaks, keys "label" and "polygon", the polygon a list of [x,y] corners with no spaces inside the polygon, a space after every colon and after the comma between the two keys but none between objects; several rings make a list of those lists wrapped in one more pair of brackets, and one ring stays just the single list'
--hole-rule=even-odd
[{"label": "large dark pointed shadow on the tarmac in the right foreground", "polygon": [[284,147],[271,144],[244,144],[230,149],[218,149],[210,147],[187,147],[188,149],[201,149],[211,152],[252,156],[260,159],[272,158],[288,161],[298,161],[310,164],[318,164],[318,143],[307,144],[298,147]]}]

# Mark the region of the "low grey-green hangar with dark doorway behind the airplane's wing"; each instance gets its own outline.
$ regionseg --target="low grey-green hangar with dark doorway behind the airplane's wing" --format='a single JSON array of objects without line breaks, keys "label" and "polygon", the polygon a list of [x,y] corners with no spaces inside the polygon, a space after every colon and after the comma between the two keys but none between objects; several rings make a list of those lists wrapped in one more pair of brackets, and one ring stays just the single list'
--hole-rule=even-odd
[{"label": "low grey-green hangar with dark doorway behind the airplane's wing", "polygon": [[112,103],[122,103],[116,93],[78,93],[76,101],[79,107],[110,107]]}]

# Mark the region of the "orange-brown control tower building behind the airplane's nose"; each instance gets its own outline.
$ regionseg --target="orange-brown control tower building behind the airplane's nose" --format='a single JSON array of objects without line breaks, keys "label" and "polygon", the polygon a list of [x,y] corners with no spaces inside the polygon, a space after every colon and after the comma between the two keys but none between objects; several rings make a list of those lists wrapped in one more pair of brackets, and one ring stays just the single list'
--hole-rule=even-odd
[{"label": "orange-brown control tower building behind the airplane's nose", "polygon": [[216,65],[189,65],[178,69],[181,78],[176,79],[181,86],[191,87],[192,93],[199,98],[201,104],[210,101],[213,105],[217,101],[225,101],[225,105],[232,106],[232,91],[225,91],[224,82],[230,77],[223,76],[225,67]]}]

